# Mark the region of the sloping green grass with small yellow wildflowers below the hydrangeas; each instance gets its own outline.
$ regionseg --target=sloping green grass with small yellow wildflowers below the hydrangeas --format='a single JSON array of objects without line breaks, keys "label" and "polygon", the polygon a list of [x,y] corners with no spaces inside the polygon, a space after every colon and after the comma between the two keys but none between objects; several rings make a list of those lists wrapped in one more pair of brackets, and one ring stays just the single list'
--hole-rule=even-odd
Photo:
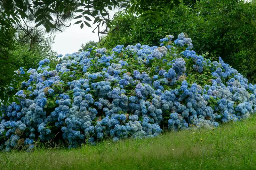
[{"label": "sloping green grass with small yellow wildflowers below the hydrangeas", "polygon": [[256,115],[215,129],[102,142],[78,149],[0,153],[0,169],[256,169]]}]

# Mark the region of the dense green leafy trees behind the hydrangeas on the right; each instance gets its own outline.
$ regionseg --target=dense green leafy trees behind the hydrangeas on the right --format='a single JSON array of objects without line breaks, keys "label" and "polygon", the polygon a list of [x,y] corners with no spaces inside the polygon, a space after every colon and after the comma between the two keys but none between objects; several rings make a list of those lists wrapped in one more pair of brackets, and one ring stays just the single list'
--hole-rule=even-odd
[{"label": "dense green leafy trees behind the hydrangeas on the right", "polygon": [[113,26],[118,27],[108,34],[105,47],[138,42],[158,45],[158,40],[166,34],[171,32],[177,37],[184,32],[196,39],[193,45],[198,53],[221,56],[256,83],[255,9],[254,0],[201,0],[193,9],[180,3],[179,7],[162,12],[161,19],[152,22],[147,20],[148,15],[121,12],[114,18]]}]

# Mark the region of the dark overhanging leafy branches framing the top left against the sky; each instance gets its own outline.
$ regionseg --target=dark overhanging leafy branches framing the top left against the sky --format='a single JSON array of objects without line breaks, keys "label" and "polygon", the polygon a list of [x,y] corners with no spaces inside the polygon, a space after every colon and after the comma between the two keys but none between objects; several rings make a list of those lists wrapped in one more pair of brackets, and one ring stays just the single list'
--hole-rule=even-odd
[{"label": "dark overhanging leafy branches framing the top left against the sky", "polygon": [[[13,43],[10,41],[15,33],[13,26],[21,29],[24,32],[23,37],[29,37],[30,42],[33,43],[37,41],[30,34],[34,24],[35,27],[43,26],[46,32],[56,32],[70,26],[71,19],[79,19],[75,24],[80,24],[81,29],[84,25],[91,27],[88,21],[94,18],[93,24],[97,25],[94,30],[98,31],[99,40],[101,40],[100,34],[106,34],[111,29],[112,18],[109,11],[115,8],[127,8],[130,11],[149,15],[148,19],[159,19],[160,11],[165,11],[166,8],[172,9],[174,4],[179,3],[178,0],[3,0],[0,1],[0,25],[2,33],[8,36],[1,36],[1,42],[6,43],[0,47],[5,49],[1,52],[4,57],[1,59],[9,58],[8,63],[12,63],[6,48],[13,48]],[[102,27],[103,30],[101,30]],[[5,66],[6,63],[1,65]],[[9,68],[12,69],[6,71],[8,75],[12,75],[12,70],[17,69]],[[6,75],[0,75],[0,77],[5,79],[0,79],[3,84],[8,83],[7,80],[10,79]]]}]

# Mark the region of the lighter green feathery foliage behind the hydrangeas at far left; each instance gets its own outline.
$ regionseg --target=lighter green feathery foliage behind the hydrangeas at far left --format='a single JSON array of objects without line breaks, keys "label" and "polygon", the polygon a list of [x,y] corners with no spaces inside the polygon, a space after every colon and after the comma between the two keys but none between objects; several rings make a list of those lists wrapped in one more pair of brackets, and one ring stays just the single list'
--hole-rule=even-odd
[{"label": "lighter green feathery foliage behind the hydrangeas at far left", "polygon": [[[10,26],[11,27],[11,26]],[[12,30],[10,28],[10,30]],[[22,31],[16,30],[10,35],[8,41],[9,47],[1,48],[0,44],[0,99],[6,104],[8,96],[14,96],[15,92],[9,91],[12,87],[19,87],[20,81],[26,80],[26,76],[20,77],[14,74],[15,70],[22,67],[25,70],[29,68],[37,69],[38,62],[47,58],[51,61],[51,66],[58,63],[56,59],[57,52],[52,51],[54,36],[45,36],[44,32],[38,29],[31,31],[33,38],[26,37]],[[40,33],[38,33],[40,32]],[[3,37],[7,37],[5,34]],[[12,47],[10,47],[12,44]],[[8,44],[5,44],[8,45]],[[0,103],[1,105],[1,103]],[[0,115],[2,113],[0,112]]]}]

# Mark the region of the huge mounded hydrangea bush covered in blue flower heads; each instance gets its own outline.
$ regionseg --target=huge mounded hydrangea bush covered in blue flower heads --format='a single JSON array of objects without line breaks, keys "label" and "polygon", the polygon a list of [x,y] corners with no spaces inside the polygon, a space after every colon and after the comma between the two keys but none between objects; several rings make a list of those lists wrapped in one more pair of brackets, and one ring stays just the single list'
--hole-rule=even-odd
[{"label": "huge mounded hydrangea bush covered in blue flower heads", "polygon": [[154,137],[164,129],[214,127],[256,112],[256,85],[237,70],[192,50],[181,33],[160,46],[117,45],[58,55],[56,68],[39,62],[25,71],[19,101],[1,107],[1,148],[36,140],[62,140],[69,147],[110,137]]}]

